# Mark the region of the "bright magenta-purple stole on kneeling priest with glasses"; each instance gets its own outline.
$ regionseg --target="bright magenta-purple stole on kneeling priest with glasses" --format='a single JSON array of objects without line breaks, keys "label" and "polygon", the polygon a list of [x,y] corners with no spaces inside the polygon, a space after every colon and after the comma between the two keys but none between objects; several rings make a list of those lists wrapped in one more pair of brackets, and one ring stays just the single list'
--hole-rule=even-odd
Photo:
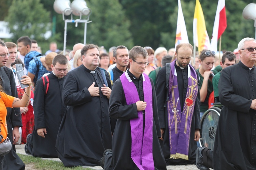
[{"label": "bright magenta-purple stole on kneeling priest with glasses", "polygon": [[[138,118],[131,119],[131,158],[140,170],[154,170],[153,160],[153,99],[152,86],[146,74],[143,77],[145,109],[145,128],[143,134],[143,114],[138,111]],[[127,71],[120,76],[127,105],[140,100],[138,91]]]}]

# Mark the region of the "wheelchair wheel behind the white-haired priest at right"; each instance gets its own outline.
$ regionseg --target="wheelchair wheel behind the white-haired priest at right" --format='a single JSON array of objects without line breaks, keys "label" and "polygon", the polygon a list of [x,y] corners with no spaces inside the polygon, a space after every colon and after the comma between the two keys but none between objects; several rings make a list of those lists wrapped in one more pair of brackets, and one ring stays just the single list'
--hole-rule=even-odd
[{"label": "wheelchair wheel behind the white-haired priest at right", "polygon": [[204,112],[201,119],[201,138],[199,142],[202,147],[213,150],[220,113],[221,109],[218,107],[211,107]]}]

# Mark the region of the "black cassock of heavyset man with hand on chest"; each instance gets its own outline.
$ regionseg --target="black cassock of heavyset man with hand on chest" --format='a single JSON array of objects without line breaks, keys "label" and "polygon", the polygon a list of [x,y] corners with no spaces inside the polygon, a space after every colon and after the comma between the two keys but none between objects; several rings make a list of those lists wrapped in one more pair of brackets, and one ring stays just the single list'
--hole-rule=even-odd
[{"label": "black cassock of heavyset man with hand on chest", "polygon": [[[63,85],[67,111],[60,124],[56,150],[64,166],[97,166],[105,149],[111,149],[109,99],[100,92],[91,97],[88,88],[103,87],[100,69],[90,73],[84,65],[68,72]],[[108,86],[112,88],[105,71]]]}]

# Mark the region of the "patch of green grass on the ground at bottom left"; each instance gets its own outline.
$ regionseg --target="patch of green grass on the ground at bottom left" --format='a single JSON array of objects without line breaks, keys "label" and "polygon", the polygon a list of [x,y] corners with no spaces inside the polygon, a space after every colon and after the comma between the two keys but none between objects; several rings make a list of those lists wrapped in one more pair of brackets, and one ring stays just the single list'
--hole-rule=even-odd
[{"label": "patch of green grass on the ground at bottom left", "polygon": [[[17,153],[18,154],[18,153]],[[91,170],[91,168],[83,167],[65,167],[62,162],[57,162],[54,160],[45,160],[40,157],[33,157],[23,154],[18,154],[18,156],[23,160],[25,165],[33,164],[36,170],[63,170],[63,169],[75,169],[75,170]]]}]

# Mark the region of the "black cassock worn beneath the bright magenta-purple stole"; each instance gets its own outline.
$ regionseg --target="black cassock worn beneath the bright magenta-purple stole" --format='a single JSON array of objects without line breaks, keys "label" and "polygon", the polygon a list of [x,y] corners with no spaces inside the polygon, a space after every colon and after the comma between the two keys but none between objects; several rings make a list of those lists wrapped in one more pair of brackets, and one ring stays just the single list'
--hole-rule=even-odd
[{"label": "black cassock worn beneath the bright magenta-purple stole", "polygon": [[[142,76],[140,79],[134,79],[133,75],[128,71],[128,74],[137,88],[140,100],[144,101]],[[165,159],[161,151],[158,138],[161,137],[159,119],[157,113],[157,102],[155,87],[150,78],[153,94],[153,159],[155,169],[166,169]],[[130,119],[138,118],[136,104],[127,105],[125,94],[120,79],[115,81],[111,92],[109,103],[109,114],[111,118],[117,119],[115,131],[112,139],[112,166],[116,170],[136,170],[139,169],[131,159],[131,125]],[[145,117],[143,117],[145,118]],[[143,120],[143,128],[144,128]]]}]

